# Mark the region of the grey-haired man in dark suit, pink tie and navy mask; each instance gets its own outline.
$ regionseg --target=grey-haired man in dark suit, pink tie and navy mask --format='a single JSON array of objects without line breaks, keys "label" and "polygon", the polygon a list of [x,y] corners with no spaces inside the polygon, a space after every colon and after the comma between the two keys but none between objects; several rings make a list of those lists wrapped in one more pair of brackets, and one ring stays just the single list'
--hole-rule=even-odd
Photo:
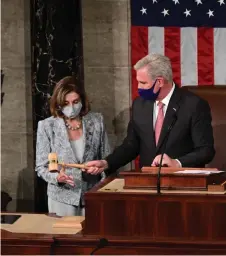
[{"label": "grey-haired man in dark suit, pink tie and navy mask", "polygon": [[163,165],[204,167],[215,155],[208,103],[174,84],[166,56],[147,55],[134,68],[140,97],[133,102],[127,137],[106,159],[88,162],[87,172],[112,173],[138,155],[140,167],[158,166],[164,148]]}]

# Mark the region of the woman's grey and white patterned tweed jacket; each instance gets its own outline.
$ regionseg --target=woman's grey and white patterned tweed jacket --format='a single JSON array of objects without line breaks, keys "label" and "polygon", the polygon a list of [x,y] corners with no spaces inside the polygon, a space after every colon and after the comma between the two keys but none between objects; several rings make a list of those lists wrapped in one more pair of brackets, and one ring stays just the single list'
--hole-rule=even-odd
[{"label": "woman's grey and white patterned tweed jacket", "polygon": [[[110,153],[103,116],[89,112],[82,118],[85,150],[83,162],[104,159]],[[75,186],[58,183],[57,172],[48,171],[48,154],[57,153],[58,162],[79,163],[71,147],[67,128],[62,118],[49,117],[39,121],[36,143],[36,167],[39,177],[48,182],[48,197],[69,205],[84,205],[84,193],[101,179],[101,175],[91,175],[77,168],[66,168],[65,173],[74,177]]]}]

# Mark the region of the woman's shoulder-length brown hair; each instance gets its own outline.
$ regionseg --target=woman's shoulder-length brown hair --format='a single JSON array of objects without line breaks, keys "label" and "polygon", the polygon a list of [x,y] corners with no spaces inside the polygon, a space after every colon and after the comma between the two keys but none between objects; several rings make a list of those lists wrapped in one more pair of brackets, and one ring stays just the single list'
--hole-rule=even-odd
[{"label": "woman's shoulder-length brown hair", "polygon": [[80,96],[82,103],[80,116],[84,116],[90,111],[84,87],[80,86],[73,76],[66,76],[56,84],[50,99],[50,112],[54,117],[64,116],[61,109],[65,106],[66,95],[71,92],[76,92]]}]

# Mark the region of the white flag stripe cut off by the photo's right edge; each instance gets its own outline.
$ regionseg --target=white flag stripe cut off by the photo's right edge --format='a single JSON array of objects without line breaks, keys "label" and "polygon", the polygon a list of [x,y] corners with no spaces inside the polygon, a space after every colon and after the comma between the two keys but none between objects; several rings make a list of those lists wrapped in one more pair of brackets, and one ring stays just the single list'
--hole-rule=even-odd
[{"label": "white flag stripe cut off by the photo's right edge", "polygon": [[226,28],[214,29],[214,84],[226,85]]}]

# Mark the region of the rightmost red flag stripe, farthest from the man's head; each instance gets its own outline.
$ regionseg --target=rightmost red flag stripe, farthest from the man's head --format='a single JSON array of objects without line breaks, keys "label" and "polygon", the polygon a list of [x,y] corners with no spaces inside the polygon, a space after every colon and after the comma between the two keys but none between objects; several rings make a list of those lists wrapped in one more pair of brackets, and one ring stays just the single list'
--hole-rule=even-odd
[{"label": "rightmost red flag stripe, farthest from the man's head", "polygon": [[197,29],[198,85],[214,84],[214,29]]}]

